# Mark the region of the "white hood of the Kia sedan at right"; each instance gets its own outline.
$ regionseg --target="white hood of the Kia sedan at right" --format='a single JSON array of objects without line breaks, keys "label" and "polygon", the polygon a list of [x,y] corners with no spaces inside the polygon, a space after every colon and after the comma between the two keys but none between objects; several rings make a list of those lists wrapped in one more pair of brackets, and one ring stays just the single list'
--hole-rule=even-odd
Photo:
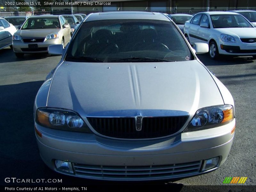
[{"label": "white hood of the Kia sedan at right", "polygon": [[215,28],[215,30],[235,38],[256,38],[256,28]]}]

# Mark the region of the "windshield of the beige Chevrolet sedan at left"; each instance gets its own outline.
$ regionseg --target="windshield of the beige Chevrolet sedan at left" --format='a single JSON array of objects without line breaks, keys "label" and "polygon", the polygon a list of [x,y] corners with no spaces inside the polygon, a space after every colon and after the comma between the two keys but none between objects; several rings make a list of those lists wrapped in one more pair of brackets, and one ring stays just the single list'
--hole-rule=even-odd
[{"label": "windshield of the beige Chevrolet sedan at left", "polygon": [[28,18],[21,29],[56,29],[60,28],[57,17],[53,18]]}]

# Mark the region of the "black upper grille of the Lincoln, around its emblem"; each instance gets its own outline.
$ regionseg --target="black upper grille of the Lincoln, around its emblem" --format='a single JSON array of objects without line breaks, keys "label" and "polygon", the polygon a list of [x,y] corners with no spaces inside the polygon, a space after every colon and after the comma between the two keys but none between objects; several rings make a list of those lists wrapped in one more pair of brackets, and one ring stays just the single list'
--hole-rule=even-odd
[{"label": "black upper grille of the Lincoln, around its emblem", "polygon": [[146,139],[178,132],[188,116],[144,117],[141,131],[136,131],[133,117],[87,117],[93,129],[105,136],[122,139]]}]

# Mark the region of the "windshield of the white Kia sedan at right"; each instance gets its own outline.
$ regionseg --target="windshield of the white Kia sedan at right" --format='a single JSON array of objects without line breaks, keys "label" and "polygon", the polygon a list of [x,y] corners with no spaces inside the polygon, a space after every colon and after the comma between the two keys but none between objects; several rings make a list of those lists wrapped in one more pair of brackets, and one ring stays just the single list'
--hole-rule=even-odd
[{"label": "windshield of the white Kia sedan at right", "polygon": [[252,25],[241,15],[211,15],[213,28],[252,28]]}]

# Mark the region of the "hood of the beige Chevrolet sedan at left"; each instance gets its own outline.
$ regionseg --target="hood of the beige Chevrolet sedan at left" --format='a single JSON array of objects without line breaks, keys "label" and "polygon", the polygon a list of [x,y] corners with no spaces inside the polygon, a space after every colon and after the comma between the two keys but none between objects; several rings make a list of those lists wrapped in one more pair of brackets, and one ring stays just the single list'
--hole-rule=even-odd
[{"label": "hood of the beige Chevrolet sedan at left", "polygon": [[36,37],[46,37],[51,33],[58,33],[60,29],[22,29],[18,30],[15,34],[21,36],[22,38],[36,38]]}]

